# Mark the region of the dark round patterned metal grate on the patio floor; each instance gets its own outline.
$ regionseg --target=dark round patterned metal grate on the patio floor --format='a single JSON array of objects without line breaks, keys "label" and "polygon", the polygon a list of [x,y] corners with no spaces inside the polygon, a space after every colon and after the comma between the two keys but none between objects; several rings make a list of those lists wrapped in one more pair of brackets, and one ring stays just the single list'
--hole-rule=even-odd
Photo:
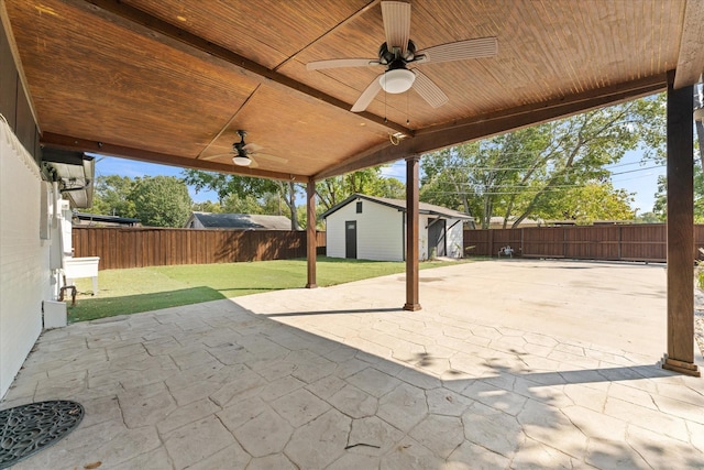
[{"label": "dark round patterned metal grate on the patio floor", "polygon": [[0,411],[0,469],[51,446],[84,418],[84,407],[67,400],[30,403]]}]

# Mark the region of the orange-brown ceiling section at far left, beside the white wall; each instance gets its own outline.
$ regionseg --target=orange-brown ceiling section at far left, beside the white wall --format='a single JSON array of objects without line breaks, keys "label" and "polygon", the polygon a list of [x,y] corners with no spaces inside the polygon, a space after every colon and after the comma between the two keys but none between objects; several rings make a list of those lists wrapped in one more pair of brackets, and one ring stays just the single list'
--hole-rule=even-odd
[{"label": "orange-brown ceiling section at far left, beside the white wall", "polygon": [[8,3],[43,130],[193,156],[257,85],[76,4]]}]

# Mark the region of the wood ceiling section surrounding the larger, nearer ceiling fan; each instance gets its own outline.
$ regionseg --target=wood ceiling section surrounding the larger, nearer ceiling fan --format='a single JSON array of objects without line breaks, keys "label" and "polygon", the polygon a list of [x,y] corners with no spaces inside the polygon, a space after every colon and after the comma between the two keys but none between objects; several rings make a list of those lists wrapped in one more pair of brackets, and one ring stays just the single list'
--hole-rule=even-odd
[{"label": "wood ceiling section surrounding the larger, nearer ceiling fan", "polygon": [[[674,17],[684,3],[669,1],[667,11],[660,11],[664,8],[662,3],[660,0],[576,3],[447,0],[438,8],[437,2],[414,1],[411,39],[419,48],[496,35],[498,55],[420,65],[449,97],[449,102],[440,108],[430,108],[411,91],[396,97],[380,94],[369,110],[395,122],[409,119],[408,127],[421,130],[460,116],[481,116],[490,110],[546,101],[667,72],[673,67],[669,59],[679,47],[670,32],[679,28]],[[650,31],[659,19],[663,26]],[[359,31],[374,34],[373,20],[373,14],[365,15],[364,22],[349,25],[351,31],[326,37],[299,56],[300,61],[370,55],[367,48],[355,47],[349,37],[355,37]],[[376,22],[381,28],[380,19]],[[646,35],[649,39],[644,45]],[[340,50],[346,53],[341,54]],[[656,53],[662,59],[651,59]],[[366,69],[362,76],[358,70],[326,70],[328,79],[314,81],[312,77],[306,78],[305,72],[293,67],[285,72],[345,100],[354,99],[375,74]],[[322,75],[321,72],[315,74]]]}]

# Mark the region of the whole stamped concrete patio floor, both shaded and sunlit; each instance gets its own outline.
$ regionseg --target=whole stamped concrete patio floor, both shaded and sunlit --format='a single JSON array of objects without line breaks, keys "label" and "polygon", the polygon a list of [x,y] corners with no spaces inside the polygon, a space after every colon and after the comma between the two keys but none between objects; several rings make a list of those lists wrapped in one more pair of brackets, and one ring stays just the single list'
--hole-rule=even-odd
[{"label": "whole stamped concrete patio floor, both shaded and sunlit", "polygon": [[15,468],[704,468],[662,265],[477,262],[404,299],[392,275],[46,331],[1,406],[86,417]]}]

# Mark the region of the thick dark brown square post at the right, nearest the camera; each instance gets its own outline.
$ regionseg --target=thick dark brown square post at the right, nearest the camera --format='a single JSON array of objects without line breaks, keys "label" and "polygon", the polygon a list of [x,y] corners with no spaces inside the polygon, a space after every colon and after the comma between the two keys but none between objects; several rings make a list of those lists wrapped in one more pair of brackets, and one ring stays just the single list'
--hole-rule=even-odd
[{"label": "thick dark brown square post at the right, nearest the camera", "polygon": [[694,98],[668,75],[668,352],[662,368],[700,376],[694,364]]}]

